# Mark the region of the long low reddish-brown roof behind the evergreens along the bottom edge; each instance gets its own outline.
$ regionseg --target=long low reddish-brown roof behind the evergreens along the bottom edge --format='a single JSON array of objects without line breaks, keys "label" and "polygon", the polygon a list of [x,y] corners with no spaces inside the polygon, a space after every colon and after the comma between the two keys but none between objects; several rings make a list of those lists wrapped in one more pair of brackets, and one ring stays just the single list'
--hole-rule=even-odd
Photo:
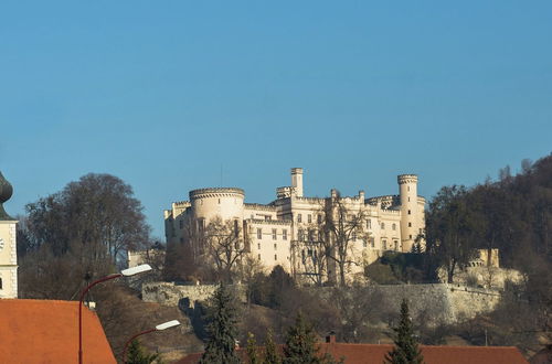
[{"label": "long low reddish-brown roof behind the evergreens along the bottom edge", "polygon": [[[346,364],[383,363],[393,345],[322,343],[320,353],[330,353]],[[427,364],[528,364],[514,346],[426,346],[421,345]],[[198,363],[201,353],[184,356],[178,364]]]}]

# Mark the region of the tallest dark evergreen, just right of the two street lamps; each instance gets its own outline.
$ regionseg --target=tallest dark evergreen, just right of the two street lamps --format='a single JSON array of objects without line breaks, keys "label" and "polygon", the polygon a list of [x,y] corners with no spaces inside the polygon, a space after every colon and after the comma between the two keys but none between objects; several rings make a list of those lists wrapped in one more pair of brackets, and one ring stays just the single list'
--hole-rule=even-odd
[{"label": "tallest dark evergreen, just right of the two street lamps", "polygon": [[237,338],[236,308],[232,293],[222,283],[211,298],[206,319],[209,321],[206,326],[209,341],[200,363],[240,363],[235,352]]}]

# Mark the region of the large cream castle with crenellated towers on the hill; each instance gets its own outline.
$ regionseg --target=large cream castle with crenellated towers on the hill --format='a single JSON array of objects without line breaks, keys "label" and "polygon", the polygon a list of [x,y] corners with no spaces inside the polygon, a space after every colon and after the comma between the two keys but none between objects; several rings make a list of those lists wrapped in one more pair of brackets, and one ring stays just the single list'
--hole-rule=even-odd
[{"label": "large cream castle with crenellated towers on the hill", "polygon": [[[396,195],[367,199],[360,191],[355,196],[340,196],[331,190],[329,197],[306,197],[302,169],[293,168],[291,185],[278,188],[276,200],[268,204],[246,203],[245,192],[236,188],[193,190],[189,201],[174,202],[164,211],[167,245],[185,244],[190,224],[201,228],[220,217],[241,226],[247,254],[266,268],[280,265],[297,279],[329,277],[332,269],[336,272],[335,261],[332,266],[328,259],[326,267],[317,270],[320,255],[328,251],[317,243],[328,240],[321,233],[327,215],[331,211],[336,216],[336,206],[341,206],[347,211],[346,220],[355,221],[353,228],[341,232],[347,239],[350,278],[385,250],[411,251],[416,242],[424,248],[418,235],[425,227],[425,199],[417,195],[417,176],[401,174],[397,182]],[[347,229],[348,223],[343,223]]]}]

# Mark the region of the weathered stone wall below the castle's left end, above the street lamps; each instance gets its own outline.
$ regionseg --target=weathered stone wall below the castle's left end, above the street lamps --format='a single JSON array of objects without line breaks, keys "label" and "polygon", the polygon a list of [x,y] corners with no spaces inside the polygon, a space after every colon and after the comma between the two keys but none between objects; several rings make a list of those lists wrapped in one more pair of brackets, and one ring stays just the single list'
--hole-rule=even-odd
[{"label": "weathered stone wall below the castle's left end, above the street lamps", "polygon": [[[217,285],[176,285],[174,282],[148,282],[141,287],[141,299],[164,306],[193,309],[195,302],[206,301],[213,296]],[[236,297],[245,302],[245,286],[232,285],[230,288]]]}]

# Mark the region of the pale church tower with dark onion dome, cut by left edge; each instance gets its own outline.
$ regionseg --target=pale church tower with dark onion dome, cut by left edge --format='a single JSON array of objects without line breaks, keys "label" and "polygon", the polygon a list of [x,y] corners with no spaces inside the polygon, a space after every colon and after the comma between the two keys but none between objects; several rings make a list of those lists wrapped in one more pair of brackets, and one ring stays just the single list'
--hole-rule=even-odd
[{"label": "pale church tower with dark onion dome, cut by left edge", "polygon": [[0,172],[0,299],[18,298],[18,249],[13,217],[3,210],[13,189]]}]

